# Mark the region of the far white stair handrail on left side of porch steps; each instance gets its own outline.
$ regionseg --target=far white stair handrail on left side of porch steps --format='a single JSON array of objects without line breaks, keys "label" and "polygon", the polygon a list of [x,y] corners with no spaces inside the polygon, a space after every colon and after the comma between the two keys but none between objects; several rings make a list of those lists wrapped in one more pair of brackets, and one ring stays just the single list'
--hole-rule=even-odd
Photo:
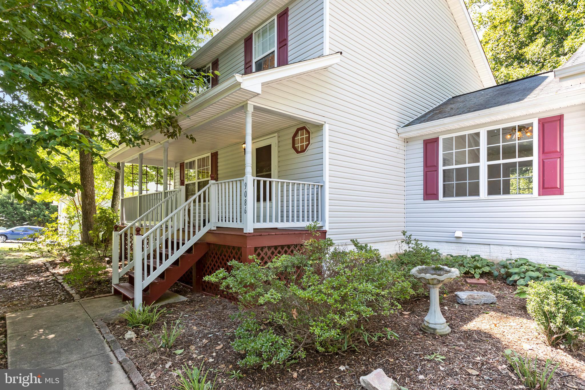
[{"label": "far white stair handrail on left side of porch steps", "polygon": [[[172,202],[178,203],[179,196],[182,194],[181,188],[171,189],[169,191],[164,191],[163,200],[154,205],[150,210],[145,212],[143,215],[139,216],[135,221],[129,223],[122,230],[119,232],[114,229],[112,233],[112,285],[118,284],[120,277],[126,272],[128,272],[132,267],[134,267],[134,260],[130,258],[130,233],[135,234],[136,228],[139,228],[142,231],[142,227],[147,227],[146,221],[153,219],[147,219],[147,215],[152,215],[154,210],[161,209],[160,216],[163,217],[166,212],[168,212],[168,203],[173,204]],[[137,195],[136,195],[137,196]],[[163,203],[167,203],[167,205],[163,206]],[[161,206],[163,206],[161,208]],[[144,223],[142,223],[144,222]],[[134,229],[134,230],[130,230]],[[120,237],[124,237],[128,235],[128,240],[125,243],[122,243],[125,247],[122,247],[121,253],[121,240]],[[125,255],[128,258],[125,258]],[[122,260],[122,268],[120,268],[119,263]],[[128,261],[128,264],[124,265],[125,261]],[[117,266],[116,266],[117,265]]]}]

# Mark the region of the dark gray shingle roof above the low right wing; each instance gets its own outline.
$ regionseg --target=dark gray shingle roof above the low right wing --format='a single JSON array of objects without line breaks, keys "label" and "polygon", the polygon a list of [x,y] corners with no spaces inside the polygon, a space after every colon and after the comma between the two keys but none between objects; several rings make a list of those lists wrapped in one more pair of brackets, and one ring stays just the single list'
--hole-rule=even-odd
[{"label": "dark gray shingle roof above the low right wing", "polygon": [[560,84],[552,71],[535,74],[494,87],[453,96],[402,127],[536,99],[544,95],[555,94],[564,88],[566,87]]}]

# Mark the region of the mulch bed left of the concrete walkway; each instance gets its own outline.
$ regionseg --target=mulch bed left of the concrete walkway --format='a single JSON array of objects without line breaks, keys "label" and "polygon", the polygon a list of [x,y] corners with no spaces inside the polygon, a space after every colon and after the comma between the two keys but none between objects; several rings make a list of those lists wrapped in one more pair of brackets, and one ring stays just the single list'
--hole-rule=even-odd
[{"label": "mulch bed left of the concrete walkway", "polygon": [[[26,254],[22,254],[26,256]],[[37,258],[27,264],[0,263],[0,369],[7,368],[6,313],[73,302],[73,297],[57,282]]]}]

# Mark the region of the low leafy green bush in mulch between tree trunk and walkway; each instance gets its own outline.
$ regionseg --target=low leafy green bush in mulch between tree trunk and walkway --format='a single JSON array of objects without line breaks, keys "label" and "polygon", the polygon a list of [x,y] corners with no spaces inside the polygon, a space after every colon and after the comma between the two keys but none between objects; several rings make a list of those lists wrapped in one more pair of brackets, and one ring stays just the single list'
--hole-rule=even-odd
[{"label": "low leafy green bush in mulch between tree trunk and walkway", "polygon": [[74,245],[65,249],[67,261],[60,263],[60,267],[70,267],[70,271],[63,276],[67,284],[74,285],[79,291],[106,281],[107,266],[100,256],[87,245]]}]

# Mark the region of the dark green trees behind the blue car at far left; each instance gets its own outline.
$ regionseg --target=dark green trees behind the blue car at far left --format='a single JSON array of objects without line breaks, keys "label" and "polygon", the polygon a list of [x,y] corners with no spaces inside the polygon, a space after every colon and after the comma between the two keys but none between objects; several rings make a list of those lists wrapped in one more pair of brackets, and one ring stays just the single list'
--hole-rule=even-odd
[{"label": "dark green trees behind the blue car at far left", "polygon": [[57,206],[49,202],[37,202],[32,196],[23,194],[24,201],[18,201],[9,192],[0,192],[0,226],[19,225],[46,226],[54,222]]}]

